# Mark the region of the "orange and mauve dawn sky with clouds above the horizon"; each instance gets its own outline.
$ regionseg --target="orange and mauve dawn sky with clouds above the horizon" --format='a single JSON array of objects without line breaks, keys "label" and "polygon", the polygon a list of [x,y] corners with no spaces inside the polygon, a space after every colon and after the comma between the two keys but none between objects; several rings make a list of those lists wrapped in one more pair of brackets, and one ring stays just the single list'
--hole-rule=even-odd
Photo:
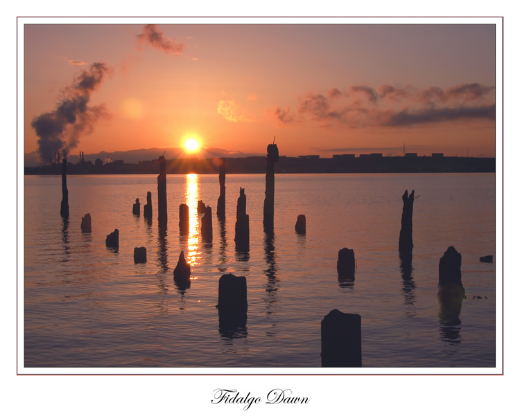
[{"label": "orange and mauve dawn sky with clouds above the horizon", "polygon": [[196,138],[261,155],[276,136],[286,156],[392,156],[404,145],[419,155],[495,156],[492,21],[121,21],[27,20],[25,153],[45,161],[59,149],[94,154]]}]

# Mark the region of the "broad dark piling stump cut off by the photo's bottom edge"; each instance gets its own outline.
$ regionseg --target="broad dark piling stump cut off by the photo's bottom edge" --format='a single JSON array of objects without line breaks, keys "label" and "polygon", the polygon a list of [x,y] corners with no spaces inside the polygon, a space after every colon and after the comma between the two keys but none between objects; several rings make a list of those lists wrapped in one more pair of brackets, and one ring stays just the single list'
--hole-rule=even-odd
[{"label": "broad dark piling stump cut off by the photo's bottom edge", "polygon": [[333,309],[322,319],[322,367],[361,367],[361,316]]}]

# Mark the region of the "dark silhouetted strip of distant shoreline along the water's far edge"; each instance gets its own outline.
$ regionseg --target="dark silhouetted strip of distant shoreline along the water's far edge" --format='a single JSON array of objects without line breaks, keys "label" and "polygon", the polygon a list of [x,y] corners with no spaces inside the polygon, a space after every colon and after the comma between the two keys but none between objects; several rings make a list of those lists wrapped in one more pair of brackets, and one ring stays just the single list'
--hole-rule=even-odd
[{"label": "dark silhouetted strip of distant shoreline along the water's far edge", "polygon": [[[221,158],[177,158],[166,160],[167,174],[218,174]],[[266,157],[225,158],[227,174],[265,174]],[[494,173],[495,158],[453,157],[453,156],[406,156],[383,157],[381,154],[367,154],[354,157],[352,154],[320,158],[319,156],[281,156],[275,164],[275,172],[306,173]],[[61,174],[61,163],[25,167],[26,175]],[[105,164],[69,163],[67,174],[159,174],[157,160],[125,163],[114,161]]]}]

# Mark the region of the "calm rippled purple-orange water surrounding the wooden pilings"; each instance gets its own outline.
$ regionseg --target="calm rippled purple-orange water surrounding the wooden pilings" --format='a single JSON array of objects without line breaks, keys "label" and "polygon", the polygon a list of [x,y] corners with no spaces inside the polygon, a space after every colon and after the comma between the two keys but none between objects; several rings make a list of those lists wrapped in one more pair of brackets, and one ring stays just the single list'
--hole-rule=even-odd
[{"label": "calm rippled purple-orange water surrounding the wooden pilings", "polygon": [[[60,176],[24,179],[26,367],[320,367],[320,321],[339,309],[362,317],[363,367],[494,367],[494,174],[277,174],[275,233],[266,239],[265,176],[226,176],[227,218],[216,218],[217,175],[168,175],[168,230],[157,226],[157,176],[68,176],[69,223]],[[237,254],[239,188],[250,215],[250,252]],[[415,189],[413,271],[397,244],[404,190]],[[153,221],[142,216],[146,192]],[[135,198],[141,217],[132,215]],[[200,238],[197,201],[213,208],[213,243]],[[191,211],[181,237],[178,208]],[[92,215],[92,233],[81,217]],[[306,215],[305,236],[295,233]],[[105,237],[119,229],[119,251]],[[438,262],[462,254],[467,299],[437,302]],[[145,246],[146,264],[133,248]],[[354,282],[340,282],[340,248],[353,248]],[[191,287],[173,282],[180,251]],[[244,275],[245,329],[220,329],[218,279]],[[473,298],[480,296],[481,299]],[[188,371],[189,372],[189,371]],[[275,372],[275,370],[273,370]]]}]

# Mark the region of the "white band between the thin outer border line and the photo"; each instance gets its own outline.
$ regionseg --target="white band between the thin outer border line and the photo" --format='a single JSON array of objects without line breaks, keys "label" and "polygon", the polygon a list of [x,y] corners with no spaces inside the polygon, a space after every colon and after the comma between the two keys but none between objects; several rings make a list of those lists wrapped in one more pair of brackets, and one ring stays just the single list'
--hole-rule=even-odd
[{"label": "white band between the thin outer border line and the photo", "polygon": [[[24,367],[24,24],[495,24],[496,25],[496,367],[385,367],[362,369],[291,368],[30,368]],[[174,374],[174,375],[396,375],[396,374],[501,374],[503,372],[503,304],[502,304],[502,147],[503,147],[503,69],[501,17],[19,17],[17,19],[18,65],[18,277],[17,277],[17,373],[18,374]],[[20,143],[21,141],[21,143]]]}]

